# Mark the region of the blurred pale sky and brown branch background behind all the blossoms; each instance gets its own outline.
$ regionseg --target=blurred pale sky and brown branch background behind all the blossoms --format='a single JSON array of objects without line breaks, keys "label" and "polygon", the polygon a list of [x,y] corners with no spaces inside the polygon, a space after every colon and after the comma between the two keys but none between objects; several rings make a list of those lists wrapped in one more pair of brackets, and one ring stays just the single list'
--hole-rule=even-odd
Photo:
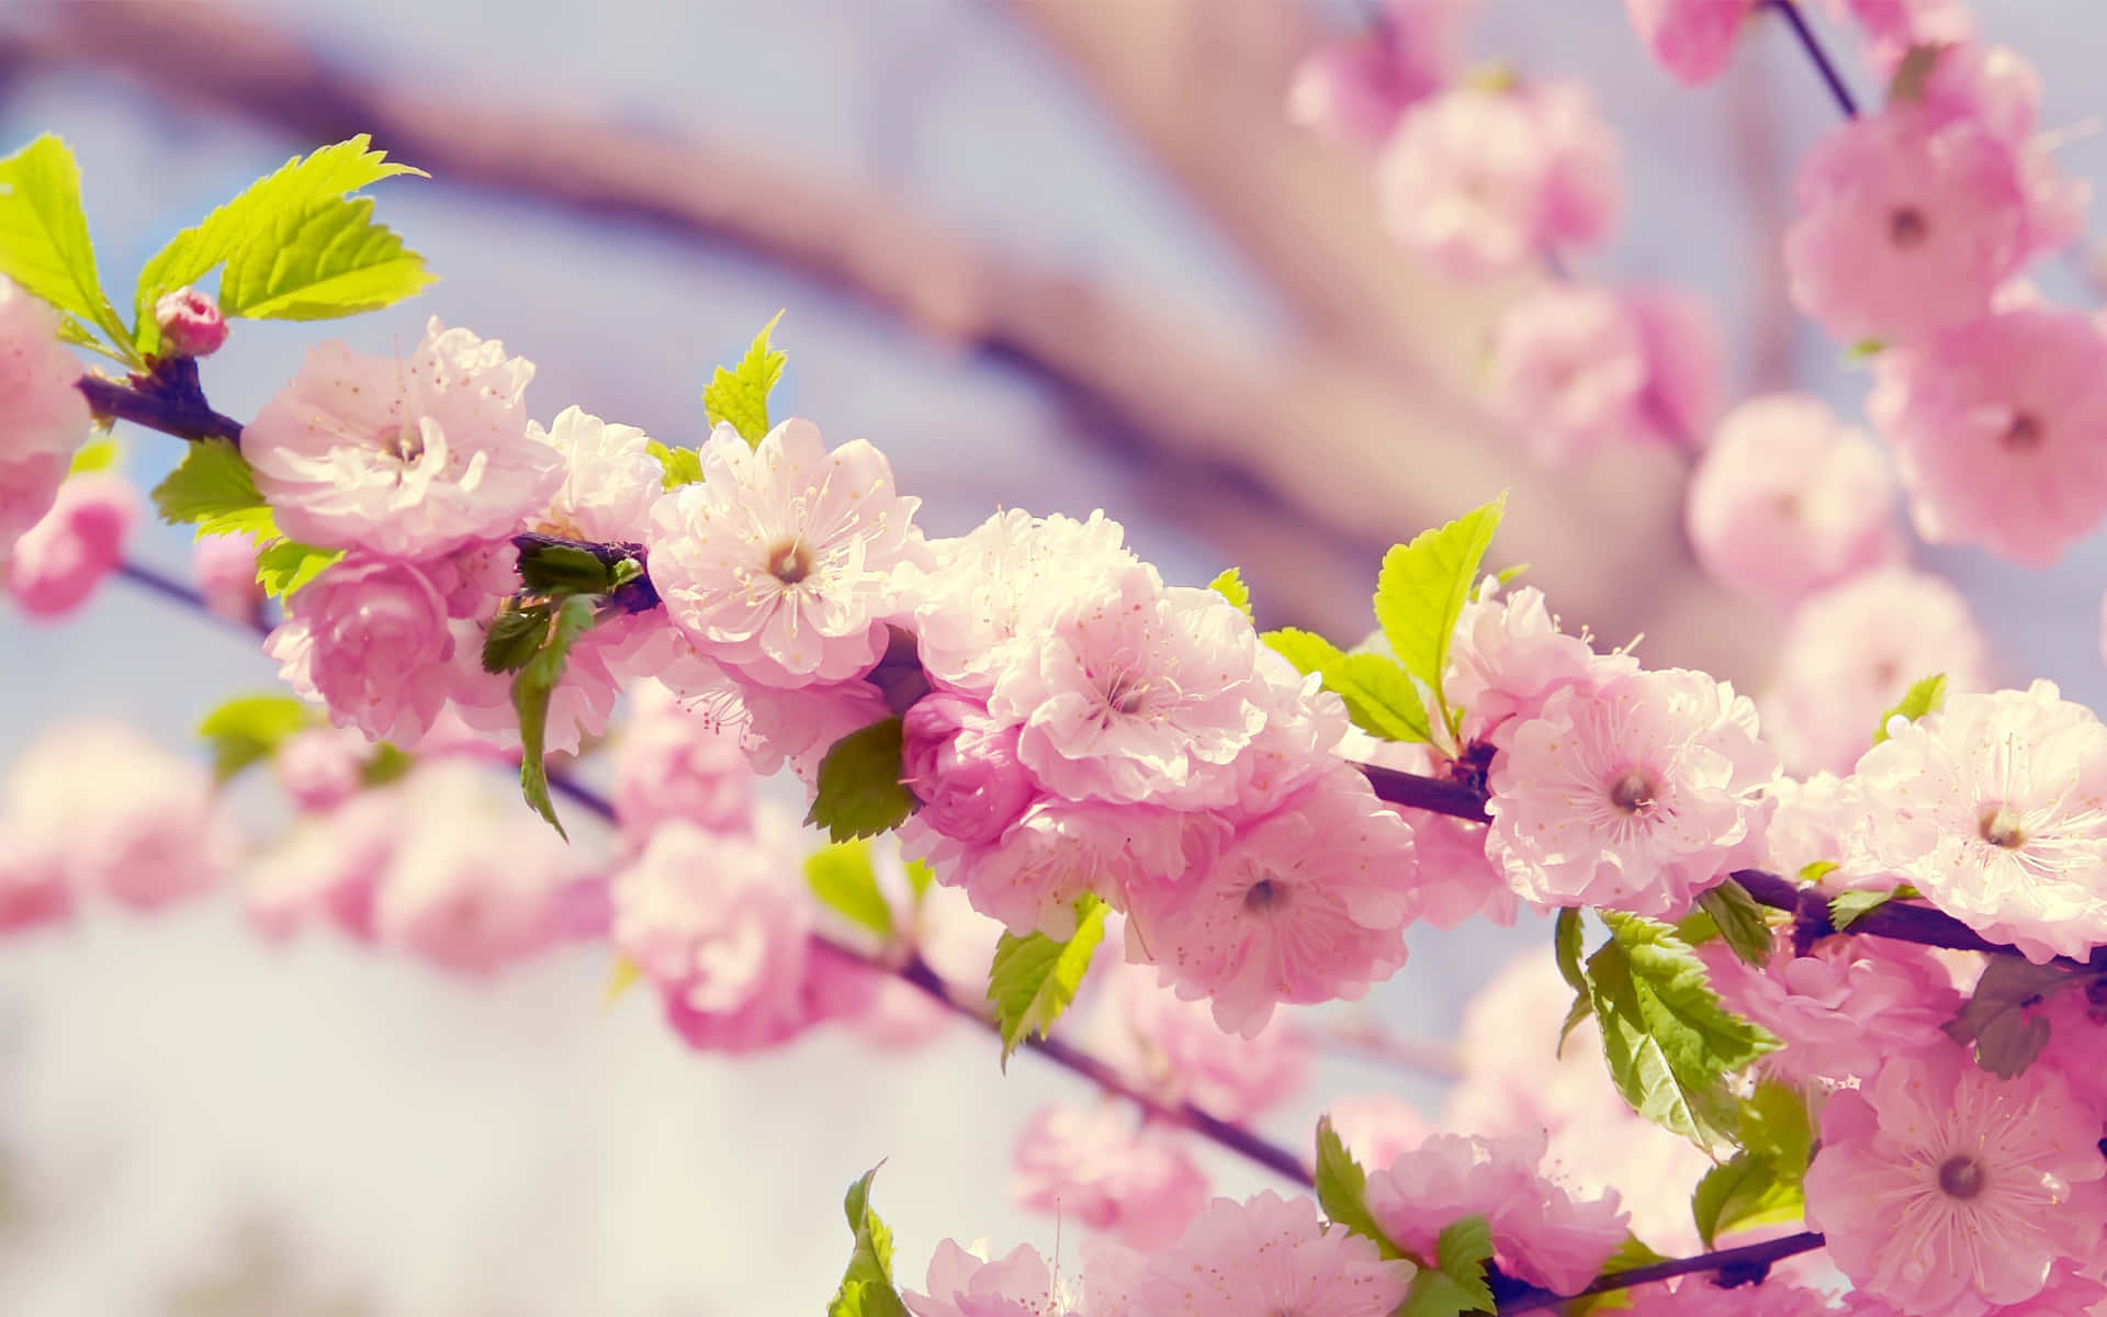
[{"label": "blurred pale sky and brown branch background behind all the blossoms", "polygon": [[[2107,15],[1978,8],[2042,70],[2044,124],[2080,131],[2065,169],[2107,177]],[[695,443],[710,369],[784,308],[777,411],[879,445],[933,535],[1104,508],[1165,577],[1241,565],[1262,626],[1351,641],[1384,546],[1511,489],[1494,558],[1532,563],[1570,630],[1761,687],[1778,617],[1692,567],[1683,464],[1532,466],[1475,377],[1517,289],[1416,270],[1367,162],[1287,122],[1296,59],[1357,21],[1294,0],[0,0],[0,152],[67,139],[105,282],[129,287],[253,177],[371,131],[434,175],[383,183],[379,215],[442,282],[324,331],[354,348],[440,316],[537,362],[541,419],[577,402]],[[1732,396],[1856,415],[1865,373],[1776,270],[1793,162],[1833,122],[1780,30],[1702,91],[1616,0],[1485,0],[1471,55],[1587,80],[1622,135],[1624,225],[1587,274],[1709,299]],[[242,322],[204,367],[213,402],[253,415],[318,337]],[[141,483],[177,455],[129,438]],[[156,525],[135,554],[181,575],[185,542]],[[1924,554],[2004,681],[2090,704],[2103,558]],[[11,615],[0,672],[0,756],[76,714],[188,744],[274,679],[253,641],[122,582],[63,626]],[[1547,940],[1426,931],[1367,1014],[1441,1043]],[[1087,1098],[1068,1075],[1026,1056],[1005,1077],[965,1030],[908,1062],[830,1033],[702,1056],[641,995],[603,1007],[605,974],[605,950],[461,984],[331,938],[274,948],[232,902],[0,944],[0,1313],[815,1313],[847,1258],[841,1191],[879,1159],[908,1279],[946,1235],[1054,1252],[1005,1167],[1035,1106]],[[1431,1108],[1439,1085],[1332,1049],[1271,1129],[1302,1146],[1317,1094]]]}]

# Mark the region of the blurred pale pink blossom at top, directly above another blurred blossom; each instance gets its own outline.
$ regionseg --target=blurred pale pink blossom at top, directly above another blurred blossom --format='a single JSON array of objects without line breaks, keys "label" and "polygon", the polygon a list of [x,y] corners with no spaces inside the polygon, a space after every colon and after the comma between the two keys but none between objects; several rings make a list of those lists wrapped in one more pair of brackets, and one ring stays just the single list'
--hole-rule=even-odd
[{"label": "blurred pale pink blossom at top, directly above another blurred blossom", "polygon": [[1616,141],[1570,84],[1454,86],[1407,110],[1376,162],[1391,234],[1458,278],[1601,242],[1616,185]]}]

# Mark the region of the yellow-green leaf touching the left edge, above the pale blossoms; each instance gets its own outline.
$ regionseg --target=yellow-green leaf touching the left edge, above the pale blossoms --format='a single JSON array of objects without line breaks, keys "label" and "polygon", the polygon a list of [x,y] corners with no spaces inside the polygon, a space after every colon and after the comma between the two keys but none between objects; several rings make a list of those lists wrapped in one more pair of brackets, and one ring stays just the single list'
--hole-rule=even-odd
[{"label": "yellow-green leaf touching the left edge, above the pale blossoms", "polygon": [[0,160],[0,274],[61,312],[93,320],[129,343],[103,280],[80,207],[80,166],[51,133]]}]

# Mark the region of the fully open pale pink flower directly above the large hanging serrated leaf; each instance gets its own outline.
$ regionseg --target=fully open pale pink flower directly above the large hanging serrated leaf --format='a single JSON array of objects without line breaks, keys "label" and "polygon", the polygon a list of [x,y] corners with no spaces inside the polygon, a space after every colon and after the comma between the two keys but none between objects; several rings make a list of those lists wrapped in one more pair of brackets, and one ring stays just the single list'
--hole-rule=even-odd
[{"label": "fully open pale pink flower directly above the large hanging serrated leaf", "polygon": [[1675,915],[1759,853],[1778,761],[1702,672],[1566,687],[1500,746],[1485,856],[1525,900]]}]

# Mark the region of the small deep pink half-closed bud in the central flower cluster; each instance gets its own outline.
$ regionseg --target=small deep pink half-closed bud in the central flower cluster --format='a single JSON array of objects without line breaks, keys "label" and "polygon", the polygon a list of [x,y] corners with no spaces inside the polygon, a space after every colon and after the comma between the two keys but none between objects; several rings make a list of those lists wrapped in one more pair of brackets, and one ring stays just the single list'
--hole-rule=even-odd
[{"label": "small deep pink half-closed bud in the central flower cluster", "polygon": [[906,712],[902,780],[923,803],[917,820],[963,843],[995,841],[1032,801],[1018,763],[1018,727],[969,695],[936,691]]}]

